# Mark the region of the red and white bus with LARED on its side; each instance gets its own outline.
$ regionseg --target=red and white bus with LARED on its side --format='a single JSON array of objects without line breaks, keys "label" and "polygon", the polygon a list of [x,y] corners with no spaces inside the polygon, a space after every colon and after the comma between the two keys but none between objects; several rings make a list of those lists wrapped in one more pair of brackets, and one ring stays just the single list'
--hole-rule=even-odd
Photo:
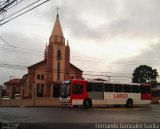
[{"label": "red and white bus with LARED on its side", "polygon": [[94,80],[66,80],[60,87],[60,103],[73,107],[93,105],[125,105],[151,103],[151,85],[111,83]]}]

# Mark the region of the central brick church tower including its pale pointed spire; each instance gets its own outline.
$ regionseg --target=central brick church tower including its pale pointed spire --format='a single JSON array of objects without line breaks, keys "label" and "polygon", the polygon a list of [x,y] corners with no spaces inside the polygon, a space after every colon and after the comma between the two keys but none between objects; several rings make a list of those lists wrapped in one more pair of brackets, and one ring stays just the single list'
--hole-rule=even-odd
[{"label": "central brick church tower including its pale pointed spire", "polygon": [[49,39],[47,53],[48,82],[63,81],[65,79],[66,64],[65,38],[57,12],[56,21]]}]

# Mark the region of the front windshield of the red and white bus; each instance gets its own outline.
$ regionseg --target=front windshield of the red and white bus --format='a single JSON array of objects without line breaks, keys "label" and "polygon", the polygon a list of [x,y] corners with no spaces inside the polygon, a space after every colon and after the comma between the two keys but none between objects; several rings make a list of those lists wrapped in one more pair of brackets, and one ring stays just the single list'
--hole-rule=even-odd
[{"label": "front windshield of the red and white bus", "polygon": [[64,82],[61,85],[60,89],[60,97],[61,98],[67,98],[70,95],[70,83]]}]

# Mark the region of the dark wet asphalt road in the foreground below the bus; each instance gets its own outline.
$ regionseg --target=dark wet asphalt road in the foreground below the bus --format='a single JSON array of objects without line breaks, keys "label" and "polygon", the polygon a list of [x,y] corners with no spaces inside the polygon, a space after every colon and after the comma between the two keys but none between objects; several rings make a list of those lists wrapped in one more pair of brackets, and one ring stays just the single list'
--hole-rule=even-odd
[{"label": "dark wet asphalt road in the foreground below the bus", "polygon": [[[92,109],[82,107],[0,107],[0,123],[1,126],[11,126],[9,124],[14,123],[15,128],[26,129],[102,127],[97,126],[97,123],[160,123],[160,105]],[[24,126],[22,126],[23,124]]]}]

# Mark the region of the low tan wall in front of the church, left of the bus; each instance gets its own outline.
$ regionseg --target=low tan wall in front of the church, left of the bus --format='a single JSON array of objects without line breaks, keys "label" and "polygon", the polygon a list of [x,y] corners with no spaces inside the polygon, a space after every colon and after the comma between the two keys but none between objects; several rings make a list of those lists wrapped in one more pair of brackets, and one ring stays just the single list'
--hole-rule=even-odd
[{"label": "low tan wall in front of the church, left of the bus", "polygon": [[58,98],[0,99],[0,106],[60,106]]}]

